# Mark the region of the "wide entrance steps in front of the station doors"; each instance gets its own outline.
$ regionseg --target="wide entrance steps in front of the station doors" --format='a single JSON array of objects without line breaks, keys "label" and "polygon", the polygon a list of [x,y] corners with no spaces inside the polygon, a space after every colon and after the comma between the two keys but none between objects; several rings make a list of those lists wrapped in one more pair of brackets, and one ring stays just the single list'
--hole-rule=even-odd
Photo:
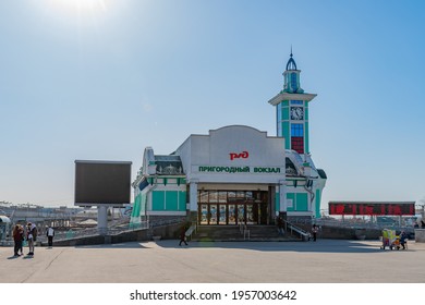
[{"label": "wide entrance steps in front of the station doors", "polygon": [[300,241],[296,235],[291,235],[289,232],[284,236],[280,236],[276,225],[198,225],[197,232],[193,233],[192,241],[264,241],[264,242],[280,242],[280,241]]}]

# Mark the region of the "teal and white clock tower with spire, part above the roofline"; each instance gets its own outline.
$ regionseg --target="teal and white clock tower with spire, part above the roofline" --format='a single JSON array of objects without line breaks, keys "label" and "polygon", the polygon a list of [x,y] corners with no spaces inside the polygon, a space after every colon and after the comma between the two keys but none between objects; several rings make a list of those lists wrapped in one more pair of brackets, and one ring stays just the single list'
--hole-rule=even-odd
[{"label": "teal and white clock tower with spire, part above the roofline", "polygon": [[284,137],[286,148],[308,155],[308,102],[316,95],[304,93],[300,73],[291,51],[283,72],[283,89],[268,102],[276,106],[277,135]]}]

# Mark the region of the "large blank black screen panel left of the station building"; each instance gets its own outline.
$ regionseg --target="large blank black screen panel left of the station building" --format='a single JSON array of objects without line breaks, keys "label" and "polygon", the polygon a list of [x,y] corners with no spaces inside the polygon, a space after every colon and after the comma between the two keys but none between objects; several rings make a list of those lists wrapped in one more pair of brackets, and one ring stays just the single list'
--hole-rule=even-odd
[{"label": "large blank black screen panel left of the station building", "polygon": [[75,161],[75,205],[130,204],[132,162]]}]

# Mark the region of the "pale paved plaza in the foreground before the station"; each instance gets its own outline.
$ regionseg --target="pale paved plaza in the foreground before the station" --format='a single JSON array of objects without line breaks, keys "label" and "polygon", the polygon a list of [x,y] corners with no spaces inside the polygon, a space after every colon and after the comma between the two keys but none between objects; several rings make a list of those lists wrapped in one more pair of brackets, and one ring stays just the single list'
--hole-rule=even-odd
[{"label": "pale paved plaza in the foreground before the station", "polygon": [[[378,241],[134,242],[36,247],[13,257],[0,247],[3,283],[424,283],[425,244],[381,251]],[[24,249],[27,253],[27,248]]]}]

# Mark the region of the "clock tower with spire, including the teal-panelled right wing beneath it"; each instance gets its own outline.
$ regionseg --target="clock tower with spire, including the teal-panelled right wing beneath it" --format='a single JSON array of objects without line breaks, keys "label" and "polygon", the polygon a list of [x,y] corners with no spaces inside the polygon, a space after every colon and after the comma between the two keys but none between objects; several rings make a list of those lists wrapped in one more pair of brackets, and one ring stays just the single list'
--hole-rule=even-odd
[{"label": "clock tower with spire, including the teal-panelled right wing beneath it", "polygon": [[292,218],[319,218],[326,173],[313,162],[308,144],[308,105],[316,97],[301,88],[301,71],[292,50],[283,72],[283,89],[268,102],[276,107],[277,135],[284,138],[286,195],[279,211]]}]

